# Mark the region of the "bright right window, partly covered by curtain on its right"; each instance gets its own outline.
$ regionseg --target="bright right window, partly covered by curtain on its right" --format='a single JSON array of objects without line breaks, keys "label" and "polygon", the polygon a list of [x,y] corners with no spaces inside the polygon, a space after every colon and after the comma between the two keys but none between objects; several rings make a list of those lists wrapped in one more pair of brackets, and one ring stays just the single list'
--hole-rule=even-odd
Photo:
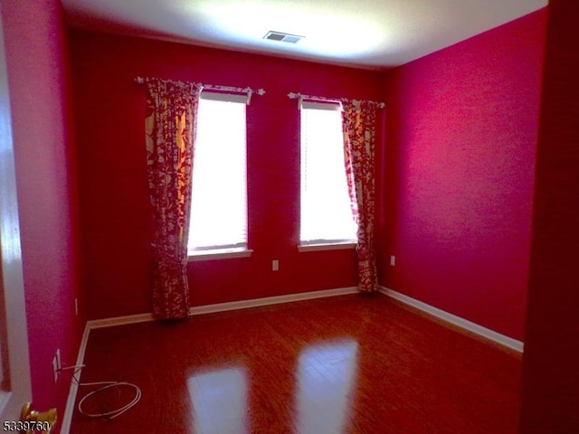
[{"label": "bright right window, partly covered by curtain on its right", "polygon": [[301,104],[300,199],[301,246],[356,242],[339,104]]}]

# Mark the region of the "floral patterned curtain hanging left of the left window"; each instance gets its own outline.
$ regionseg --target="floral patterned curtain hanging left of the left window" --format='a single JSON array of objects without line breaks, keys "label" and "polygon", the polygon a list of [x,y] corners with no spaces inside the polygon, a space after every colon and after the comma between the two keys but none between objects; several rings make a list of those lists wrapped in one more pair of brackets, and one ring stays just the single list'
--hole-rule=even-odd
[{"label": "floral patterned curtain hanging left of the left window", "polygon": [[201,85],[147,79],[147,174],[153,205],[155,269],[153,312],[189,315],[187,239],[193,141]]}]

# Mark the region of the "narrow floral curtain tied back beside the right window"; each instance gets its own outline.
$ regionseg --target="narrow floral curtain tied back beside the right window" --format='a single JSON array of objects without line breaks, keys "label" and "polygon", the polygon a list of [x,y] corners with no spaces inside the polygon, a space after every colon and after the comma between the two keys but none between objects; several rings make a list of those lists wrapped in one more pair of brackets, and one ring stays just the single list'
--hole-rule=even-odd
[{"label": "narrow floral curtain tied back beside the right window", "polygon": [[358,223],[358,288],[374,292],[378,290],[374,252],[376,105],[346,101],[342,107],[347,184]]}]

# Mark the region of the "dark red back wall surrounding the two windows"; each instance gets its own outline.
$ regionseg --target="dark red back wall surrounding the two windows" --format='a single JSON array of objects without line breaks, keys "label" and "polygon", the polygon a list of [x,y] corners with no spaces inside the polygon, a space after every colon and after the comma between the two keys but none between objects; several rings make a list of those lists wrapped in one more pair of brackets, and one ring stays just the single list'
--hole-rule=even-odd
[{"label": "dark red back wall surrounding the two windows", "polygon": [[[356,253],[299,253],[299,111],[290,91],[376,99],[381,74],[98,33],[71,33],[90,318],[150,312],[145,90],[156,76],[264,88],[248,108],[249,259],[189,264],[194,306],[356,285]],[[271,260],[280,271],[271,271]]]}]

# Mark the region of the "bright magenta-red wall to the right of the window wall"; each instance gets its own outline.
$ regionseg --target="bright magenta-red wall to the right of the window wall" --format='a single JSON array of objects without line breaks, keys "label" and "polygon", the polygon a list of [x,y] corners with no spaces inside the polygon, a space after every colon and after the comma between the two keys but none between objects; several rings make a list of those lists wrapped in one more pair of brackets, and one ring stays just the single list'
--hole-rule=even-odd
[{"label": "bright magenta-red wall to the right of the window wall", "polygon": [[545,22],[546,10],[529,14],[403,65],[385,85],[381,281],[516,339]]}]

